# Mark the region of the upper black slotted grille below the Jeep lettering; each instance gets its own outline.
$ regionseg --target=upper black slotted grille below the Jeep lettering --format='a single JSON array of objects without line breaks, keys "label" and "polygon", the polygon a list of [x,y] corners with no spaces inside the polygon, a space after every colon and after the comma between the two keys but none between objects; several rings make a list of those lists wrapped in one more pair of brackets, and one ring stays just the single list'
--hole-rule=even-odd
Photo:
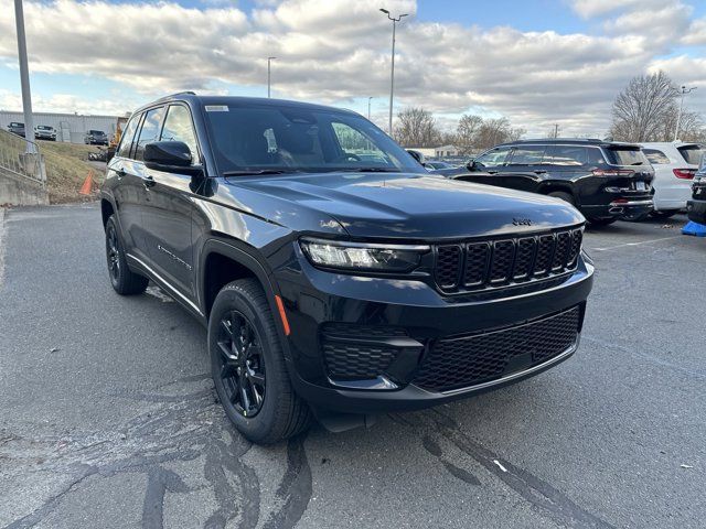
[{"label": "upper black slotted grille below the Jeep lettering", "polygon": [[576,268],[584,228],[436,247],[435,279],[446,293],[498,289]]}]

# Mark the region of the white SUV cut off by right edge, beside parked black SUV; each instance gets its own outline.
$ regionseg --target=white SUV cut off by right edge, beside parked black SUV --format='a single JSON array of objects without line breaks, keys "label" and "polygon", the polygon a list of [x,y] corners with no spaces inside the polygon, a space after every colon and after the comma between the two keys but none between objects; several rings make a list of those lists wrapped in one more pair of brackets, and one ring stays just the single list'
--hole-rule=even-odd
[{"label": "white SUV cut off by right edge, beside parked black SUV", "polygon": [[692,197],[692,181],[706,145],[700,143],[640,143],[654,168],[654,217],[667,218],[686,207]]}]

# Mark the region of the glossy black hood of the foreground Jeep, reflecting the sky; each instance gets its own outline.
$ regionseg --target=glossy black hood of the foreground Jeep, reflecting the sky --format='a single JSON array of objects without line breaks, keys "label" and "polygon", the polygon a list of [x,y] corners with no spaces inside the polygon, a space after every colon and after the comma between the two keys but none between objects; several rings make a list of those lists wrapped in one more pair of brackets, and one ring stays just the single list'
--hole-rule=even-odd
[{"label": "glossy black hood of the foreground Jeep, reflecting the sky", "polygon": [[353,237],[463,238],[585,222],[576,208],[557,198],[431,175],[323,173],[240,177],[231,183],[269,195],[277,208],[284,207],[282,201],[290,209],[306,208],[307,216],[325,214]]}]

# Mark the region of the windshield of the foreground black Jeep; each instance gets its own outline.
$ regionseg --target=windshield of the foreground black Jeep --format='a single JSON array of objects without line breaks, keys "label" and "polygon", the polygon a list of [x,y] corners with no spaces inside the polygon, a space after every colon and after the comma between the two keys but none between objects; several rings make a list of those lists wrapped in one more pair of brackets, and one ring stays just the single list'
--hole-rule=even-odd
[{"label": "windshield of the foreground black Jeep", "polygon": [[237,101],[206,105],[204,110],[224,174],[425,172],[382,130],[356,115]]}]

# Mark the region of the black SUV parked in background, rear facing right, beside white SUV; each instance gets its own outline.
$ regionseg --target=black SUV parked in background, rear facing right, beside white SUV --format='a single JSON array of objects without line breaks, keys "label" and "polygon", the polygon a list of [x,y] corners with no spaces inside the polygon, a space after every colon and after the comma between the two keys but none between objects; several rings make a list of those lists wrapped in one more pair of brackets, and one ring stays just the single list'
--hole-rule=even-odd
[{"label": "black SUV parked in background, rear facing right, beside white SUV", "polygon": [[639,145],[589,139],[503,143],[456,180],[561,198],[591,224],[608,225],[654,208],[654,170]]}]

